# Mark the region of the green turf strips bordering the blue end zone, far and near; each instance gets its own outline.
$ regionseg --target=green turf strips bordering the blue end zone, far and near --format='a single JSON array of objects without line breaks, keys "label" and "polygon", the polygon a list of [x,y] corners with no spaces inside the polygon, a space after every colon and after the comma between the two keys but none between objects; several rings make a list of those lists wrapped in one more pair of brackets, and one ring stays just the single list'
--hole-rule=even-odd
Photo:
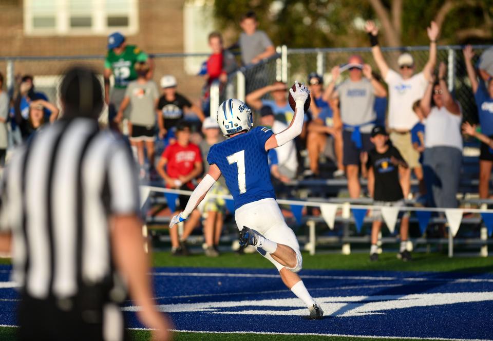
[{"label": "green turf strips bordering the blue end zone, far and near", "polygon": [[[491,257],[454,257],[448,258],[442,253],[414,253],[413,260],[402,262],[395,253],[380,255],[380,261],[370,262],[368,254],[317,254],[310,256],[303,254],[304,269],[331,269],[331,270],[379,270],[379,271],[431,271],[431,272],[493,272]],[[8,259],[0,259],[0,263],[9,263]],[[168,252],[156,252],[153,256],[155,267],[214,267],[214,268],[272,268],[272,264],[257,254],[223,253],[217,258],[208,258],[202,254],[187,257],[172,257]],[[302,273],[301,273],[302,275]],[[134,340],[148,340],[147,331],[131,331]],[[15,340],[15,328],[0,328],[0,340]],[[330,340],[330,341],[362,341],[388,340],[388,338],[355,338],[355,337],[327,337],[312,335],[275,335],[275,334],[232,334],[232,333],[183,333],[174,334],[174,340]]]}]

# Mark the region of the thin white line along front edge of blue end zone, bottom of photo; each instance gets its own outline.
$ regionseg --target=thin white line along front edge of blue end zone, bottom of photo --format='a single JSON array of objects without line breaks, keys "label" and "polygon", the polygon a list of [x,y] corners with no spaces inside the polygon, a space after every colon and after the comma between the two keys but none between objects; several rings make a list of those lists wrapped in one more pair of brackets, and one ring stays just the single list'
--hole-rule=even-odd
[{"label": "thin white line along front edge of blue end zone, bottom of photo", "polygon": [[[130,330],[152,330],[149,328],[127,328]],[[236,332],[218,332],[218,331],[203,331],[203,330],[179,330],[170,329],[172,332],[181,333],[199,333],[199,334],[261,334],[261,335],[299,335],[299,336],[332,336],[332,337],[359,337],[359,338],[390,338],[397,340],[422,340],[424,338],[429,340],[445,340],[445,341],[492,341],[486,338],[443,338],[443,337],[414,337],[414,336],[378,336],[378,335],[349,335],[349,334],[323,334],[323,333],[276,333],[276,332],[250,332],[250,331],[236,331]]]}]

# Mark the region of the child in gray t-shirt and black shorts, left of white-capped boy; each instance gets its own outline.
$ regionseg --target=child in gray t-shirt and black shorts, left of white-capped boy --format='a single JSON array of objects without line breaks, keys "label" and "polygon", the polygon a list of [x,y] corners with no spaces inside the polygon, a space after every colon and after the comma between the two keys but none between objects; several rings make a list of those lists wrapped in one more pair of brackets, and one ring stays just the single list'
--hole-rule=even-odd
[{"label": "child in gray t-shirt and black shorts, left of white-capped boy", "polygon": [[[129,113],[129,121],[131,123],[129,129],[130,142],[137,147],[137,157],[140,165],[140,177],[145,177],[144,169],[144,142],[147,150],[147,160],[149,161],[149,172],[154,172],[154,130],[156,128],[156,115],[160,113],[156,110],[159,99],[158,87],[153,81],[146,78],[149,71],[147,63],[136,63],[135,69],[138,74],[136,81],[128,83],[125,90],[125,97],[118,110],[116,123],[120,123],[123,119],[123,112],[128,105],[131,105]],[[159,129],[162,132],[164,126],[162,121]]]}]

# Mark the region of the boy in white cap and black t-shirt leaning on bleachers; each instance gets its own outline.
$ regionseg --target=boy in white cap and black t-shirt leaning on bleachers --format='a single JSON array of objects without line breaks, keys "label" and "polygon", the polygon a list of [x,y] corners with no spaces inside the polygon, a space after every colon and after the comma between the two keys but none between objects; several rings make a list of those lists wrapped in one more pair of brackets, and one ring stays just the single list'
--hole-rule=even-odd
[{"label": "boy in white cap and black t-shirt leaning on bleachers", "polygon": [[175,143],[176,124],[183,120],[185,113],[195,114],[201,122],[204,120],[202,110],[177,92],[176,88],[177,82],[173,75],[166,74],[161,78],[162,95],[158,102],[158,123],[160,127],[164,127],[164,130],[160,129],[159,137],[164,138],[165,145]]}]

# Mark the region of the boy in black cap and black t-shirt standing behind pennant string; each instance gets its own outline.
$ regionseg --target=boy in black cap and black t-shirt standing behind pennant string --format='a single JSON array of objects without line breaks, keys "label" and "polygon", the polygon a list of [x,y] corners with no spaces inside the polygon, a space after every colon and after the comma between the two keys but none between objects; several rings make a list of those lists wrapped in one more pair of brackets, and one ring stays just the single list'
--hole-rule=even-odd
[{"label": "boy in black cap and black t-shirt standing behind pennant string", "polygon": [[[399,167],[408,167],[401,153],[394,146],[388,144],[389,136],[385,127],[375,126],[371,131],[371,142],[375,148],[368,152],[368,166],[373,168],[375,175],[374,200],[377,206],[404,206],[404,196],[399,182]],[[378,260],[377,241],[378,233],[382,227],[382,212],[374,212],[373,225],[371,226],[370,260]],[[409,235],[409,214],[401,218],[401,247],[399,256],[402,260],[411,259],[411,254],[406,249]]]}]

